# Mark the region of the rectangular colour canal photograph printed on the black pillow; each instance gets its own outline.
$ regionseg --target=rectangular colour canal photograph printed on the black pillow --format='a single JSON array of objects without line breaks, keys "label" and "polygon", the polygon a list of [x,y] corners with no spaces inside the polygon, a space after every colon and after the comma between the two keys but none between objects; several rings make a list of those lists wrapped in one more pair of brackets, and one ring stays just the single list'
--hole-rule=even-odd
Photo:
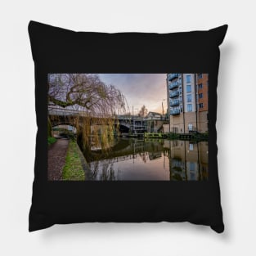
[{"label": "rectangular colour canal photograph printed on the black pillow", "polygon": [[48,181],[209,179],[209,74],[48,74]]}]

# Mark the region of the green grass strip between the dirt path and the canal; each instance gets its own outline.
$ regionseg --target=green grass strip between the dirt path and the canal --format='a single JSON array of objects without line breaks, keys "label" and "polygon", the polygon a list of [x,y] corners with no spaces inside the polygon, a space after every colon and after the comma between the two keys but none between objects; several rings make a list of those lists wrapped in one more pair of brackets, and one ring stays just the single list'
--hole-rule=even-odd
[{"label": "green grass strip between the dirt path and the canal", "polygon": [[74,141],[70,141],[65,166],[62,171],[63,181],[84,181],[85,174],[79,156],[79,146]]}]

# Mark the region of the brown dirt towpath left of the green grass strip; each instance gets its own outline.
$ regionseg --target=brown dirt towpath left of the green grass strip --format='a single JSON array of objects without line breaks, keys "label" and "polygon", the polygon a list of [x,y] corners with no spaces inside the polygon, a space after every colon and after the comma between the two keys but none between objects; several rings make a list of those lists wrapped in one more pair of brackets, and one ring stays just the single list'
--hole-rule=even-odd
[{"label": "brown dirt towpath left of the green grass strip", "polygon": [[69,146],[67,139],[58,139],[48,150],[48,181],[60,181]]}]

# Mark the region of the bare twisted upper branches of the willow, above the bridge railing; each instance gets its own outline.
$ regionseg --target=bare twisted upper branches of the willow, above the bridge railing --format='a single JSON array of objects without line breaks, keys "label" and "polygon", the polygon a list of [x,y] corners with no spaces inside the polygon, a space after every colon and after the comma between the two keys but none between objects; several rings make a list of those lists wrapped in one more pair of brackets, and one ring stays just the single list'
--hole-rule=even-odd
[{"label": "bare twisted upper branches of the willow, above the bridge railing", "polygon": [[113,114],[125,107],[124,95],[103,83],[97,74],[49,74],[47,86],[49,102],[56,106],[101,114]]}]

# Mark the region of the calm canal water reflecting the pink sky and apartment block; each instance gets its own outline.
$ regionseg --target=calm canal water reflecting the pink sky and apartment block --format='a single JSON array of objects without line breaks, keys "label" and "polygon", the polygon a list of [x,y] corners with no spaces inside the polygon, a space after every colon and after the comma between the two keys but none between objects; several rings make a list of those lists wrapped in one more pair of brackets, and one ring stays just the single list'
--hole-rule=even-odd
[{"label": "calm canal water reflecting the pink sky and apartment block", "polygon": [[208,179],[207,141],[119,139],[110,150],[85,152],[97,181]]}]

